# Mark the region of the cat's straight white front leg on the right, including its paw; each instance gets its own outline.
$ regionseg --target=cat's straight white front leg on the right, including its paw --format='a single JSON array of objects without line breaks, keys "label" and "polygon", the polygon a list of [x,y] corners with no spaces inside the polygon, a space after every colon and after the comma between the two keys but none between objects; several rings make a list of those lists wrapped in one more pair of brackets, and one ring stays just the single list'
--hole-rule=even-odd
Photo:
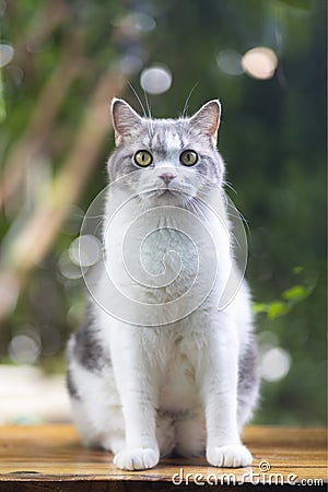
[{"label": "cat's straight white front leg on the right, including its paw", "polygon": [[238,339],[226,323],[210,336],[199,372],[200,395],[207,426],[207,459],[215,467],[251,464],[237,426]]}]

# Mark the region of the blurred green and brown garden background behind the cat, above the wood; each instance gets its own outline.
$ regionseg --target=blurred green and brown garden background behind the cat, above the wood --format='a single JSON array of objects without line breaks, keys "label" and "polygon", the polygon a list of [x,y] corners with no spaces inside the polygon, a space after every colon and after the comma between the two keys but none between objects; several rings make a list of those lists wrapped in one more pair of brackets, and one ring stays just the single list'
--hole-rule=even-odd
[{"label": "blurred green and brown garden background behind the cat, above the wood", "polygon": [[[219,97],[248,224],[256,423],[326,418],[326,1],[0,0],[0,422],[69,420],[83,214],[107,183],[109,102],[154,117]],[[235,191],[234,191],[235,190]]]}]

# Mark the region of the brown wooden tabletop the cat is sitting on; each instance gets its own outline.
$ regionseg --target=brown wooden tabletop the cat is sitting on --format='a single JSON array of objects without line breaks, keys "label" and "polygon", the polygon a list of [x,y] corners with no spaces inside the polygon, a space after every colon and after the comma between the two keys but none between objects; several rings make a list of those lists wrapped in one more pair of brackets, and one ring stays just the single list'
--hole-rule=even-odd
[{"label": "brown wooden tabletop the cat is sitting on", "polygon": [[246,429],[244,441],[254,456],[251,468],[220,469],[203,458],[175,458],[129,472],[117,470],[110,454],[83,448],[71,425],[0,426],[0,491],[213,490],[211,483],[248,490],[270,481],[313,489],[327,481],[324,429],[254,426]]}]

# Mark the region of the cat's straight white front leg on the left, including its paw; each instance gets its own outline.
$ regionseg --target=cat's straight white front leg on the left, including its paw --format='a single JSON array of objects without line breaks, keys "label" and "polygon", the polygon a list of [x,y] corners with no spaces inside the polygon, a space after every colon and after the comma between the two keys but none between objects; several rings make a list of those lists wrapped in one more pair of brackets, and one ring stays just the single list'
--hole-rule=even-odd
[{"label": "cat's straight white front leg on the left, including its paw", "polygon": [[[125,419],[125,448],[114,464],[125,470],[154,467],[160,459],[156,440],[159,382],[144,347],[149,329],[119,324],[113,332],[113,366]],[[114,330],[113,330],[114,331]]]}]

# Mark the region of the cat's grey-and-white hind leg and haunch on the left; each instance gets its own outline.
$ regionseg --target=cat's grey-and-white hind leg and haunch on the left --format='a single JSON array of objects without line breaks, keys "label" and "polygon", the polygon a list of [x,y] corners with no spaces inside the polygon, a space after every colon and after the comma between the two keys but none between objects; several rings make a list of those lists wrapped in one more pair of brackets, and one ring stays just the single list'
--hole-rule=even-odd
[{"label": "cat's grey-and-white hind leg and haunch on the left", "polygon": [[109,349],[94,308],[89,298],[82,326],[69,340],[67,386],[84,445],[117,453],[125,445],[125,424]]}]

